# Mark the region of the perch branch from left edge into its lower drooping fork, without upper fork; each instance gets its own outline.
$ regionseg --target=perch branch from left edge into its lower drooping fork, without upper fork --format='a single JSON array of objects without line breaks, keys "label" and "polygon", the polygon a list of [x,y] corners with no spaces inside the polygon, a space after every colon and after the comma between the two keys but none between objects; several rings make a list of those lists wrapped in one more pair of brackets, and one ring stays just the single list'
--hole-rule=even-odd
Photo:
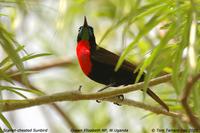
[{"label": "perch branch from left edge into its lower drooping fork, without upper fork", "polygon": [[[0,103],[1,111],[6,112],[6,111],[12,111],[16,109],[22,109],[26,107],[32,107],[36,105],[42,105],[42,104],[49,104],[53,102],[58,102],[58,101],[80,101],[80,100],[96,100],[96,99],[103,99],[105,97],[102,97],[102,93],[106,92],[100,92],[100,93],[93,93],[93,94],[82,94],[79,91],[71,91],[71,92],[62,92],[62,93],[56,93],[53,95],[48,95],[48,96],[41,96],[38,98],[34,99],[27,99],[27,100],[3,100]],[[117,102],[121,105],[129,105],[129,106],[135,106],[142,108],[144,110],[149,110],[157,114],[164,114],[167,116],[171,117],[178,117],[182,118],[181,114],[175,113],[175,112],[167,112],[164,109],[150,106],[147,104],[144,104],[142,102],[137,102],[134,100],[130,99],[124,99],[120,100],[116,97],[114,98],[106,98],[103,99],[104,101],[110,101],[110,102]]]}]

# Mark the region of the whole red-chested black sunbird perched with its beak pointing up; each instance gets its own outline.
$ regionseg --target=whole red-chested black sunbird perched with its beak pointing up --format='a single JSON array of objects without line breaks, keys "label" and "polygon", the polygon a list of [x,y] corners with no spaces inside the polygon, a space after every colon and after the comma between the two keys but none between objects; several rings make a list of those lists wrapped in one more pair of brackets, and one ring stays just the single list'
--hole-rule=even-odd
[{"label": "whole red-chested black sunbird perched with its beak pointing up", "polygon": [[[87,77],[112,87],[134,84],[138,75],[138,72],[134,73],[136,66],[125,60],[119,70],[115,71],[119,56],[96,44],[93,28],[87,24],[86,17],[83,26],[79,28],[77,43],[78,61]],[[144,76],[145,73],[139,82],[144,81]],[[149,88],[147,94],[169,111],[168,106]]]}]

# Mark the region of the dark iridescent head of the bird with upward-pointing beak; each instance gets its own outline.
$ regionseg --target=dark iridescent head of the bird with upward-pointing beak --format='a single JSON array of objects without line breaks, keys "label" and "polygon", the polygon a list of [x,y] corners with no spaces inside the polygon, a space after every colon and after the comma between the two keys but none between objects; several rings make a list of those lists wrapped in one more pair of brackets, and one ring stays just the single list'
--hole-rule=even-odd
[{"label": "dark iridescent head of the bird with upward-pointing beak", "polygon": [[86,17],[84,17],[83,26],[79,27],[78,31],[77,42],[81,40],[89,41],[90,44],[96,44],[93,28],[88,25]]}]

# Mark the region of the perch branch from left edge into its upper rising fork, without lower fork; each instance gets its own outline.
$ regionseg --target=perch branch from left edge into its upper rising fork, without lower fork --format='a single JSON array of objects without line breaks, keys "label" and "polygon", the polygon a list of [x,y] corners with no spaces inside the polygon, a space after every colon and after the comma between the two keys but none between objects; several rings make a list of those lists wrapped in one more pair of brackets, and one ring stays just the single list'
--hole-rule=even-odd
[{"label": "perch branch from left edge into its upper rising fork, without lower fork", "polygon": [[[155,78],[149,82],[150,86],[160,84],[170,80],[171,75],[165,75],[158,78]],[[77,100],[96,100],[96,99],[104,99],[109,97],[114,97],[117,95],[125,94],[128,92],[136,91],[142,89],[144,82],[140,82],[134,85],[124,86],[124,87],[116,87],[115,90],[104,91],[98,93],[80,93],[78,91],[71,92],[62,92],[56,93],[49,96],[41,96],[35,99],[27,99],[27,100],[4,100],[4,102],[0,103],[0,107],[2,111],[11,111],[15,109],[31,107],[35,105],[47,104],[57,101],[77,101]]]}]

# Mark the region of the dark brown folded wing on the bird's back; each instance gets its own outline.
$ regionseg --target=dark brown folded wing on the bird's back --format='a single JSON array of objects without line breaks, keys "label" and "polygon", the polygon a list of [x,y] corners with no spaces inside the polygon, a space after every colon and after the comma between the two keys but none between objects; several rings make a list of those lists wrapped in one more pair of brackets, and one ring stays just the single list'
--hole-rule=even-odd
[{"label": "dark brown folded wing on the bird's back", "polygon": [[[97,47],[96,50],[92,52],[91,58],[92,60],[111,66],[115,66],[119,60],[118,55],[101,47]],[[134,71],[136,69],[136,66],[124,60],[123,64],[121,65],[121,68],[127,69],[129,71]]]}]

